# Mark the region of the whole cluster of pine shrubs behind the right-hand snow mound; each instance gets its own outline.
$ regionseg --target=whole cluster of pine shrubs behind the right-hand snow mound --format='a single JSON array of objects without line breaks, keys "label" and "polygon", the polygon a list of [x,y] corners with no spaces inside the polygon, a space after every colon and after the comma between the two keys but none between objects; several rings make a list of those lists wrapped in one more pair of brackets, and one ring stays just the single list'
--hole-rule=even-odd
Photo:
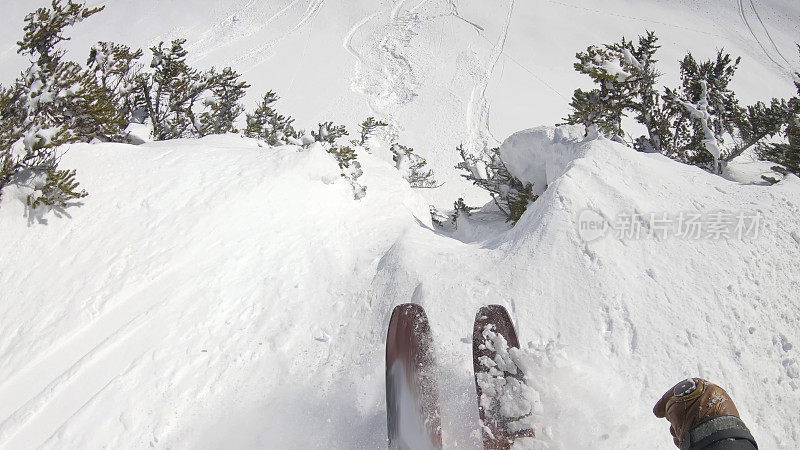
[{"label": "whole cluster of pine shrubs behind the right-hand snow mound", "polygon": [[629,142],[634,148],[715,172],[785,126],[789,108],[783,100],[739,105],[728,85],[740,60],[722,51],[703,63],[689,53],[680,63],[681,87],[659,94],[657,42],[648,32],[636,44],[622,38],[578,53],[575,70],[597,87],[575,91],[566,123],[585,125],[590,136],[602,133],[624,142],[622,120],[633,114],[647,130]]}]

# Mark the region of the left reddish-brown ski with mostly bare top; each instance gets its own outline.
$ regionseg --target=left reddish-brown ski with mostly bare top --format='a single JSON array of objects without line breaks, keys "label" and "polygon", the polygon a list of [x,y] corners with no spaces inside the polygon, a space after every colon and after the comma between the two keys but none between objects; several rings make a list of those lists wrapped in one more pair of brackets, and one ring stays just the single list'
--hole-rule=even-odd
[{"label": "left reddish-brown ski with mostly bare top", "polygon": [[433,340],[421,306],[394,308],[386,336],[386,420],[391,449],[441,449]]}]

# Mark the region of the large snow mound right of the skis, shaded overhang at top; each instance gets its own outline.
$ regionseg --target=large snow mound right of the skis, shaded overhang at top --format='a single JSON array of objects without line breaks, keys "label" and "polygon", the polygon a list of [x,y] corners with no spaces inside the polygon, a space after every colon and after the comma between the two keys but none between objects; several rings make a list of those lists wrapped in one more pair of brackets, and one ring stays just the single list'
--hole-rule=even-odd
[{"label": "large snow mound right of the skis, shaded overhang at top", "polygon": [[520,326],[572,359],[533,371],[557,442],[649,446],[664,424],[647,407],[699,375],[730,388],[760,445],[797,446],[800,179],[739,184],[568,129],[516,133],[501,154],[548,186],[497,246]]}]

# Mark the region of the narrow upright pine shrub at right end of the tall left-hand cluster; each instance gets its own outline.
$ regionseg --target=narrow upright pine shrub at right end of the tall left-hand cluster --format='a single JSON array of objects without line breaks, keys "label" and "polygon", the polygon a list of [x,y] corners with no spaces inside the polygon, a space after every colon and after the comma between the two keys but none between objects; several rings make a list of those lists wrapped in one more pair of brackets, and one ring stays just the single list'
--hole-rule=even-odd
[{"label": "narrow upright pine shrub at right end of the tall left-hand cluster", "polygon": [[240,74],[230,67],[208,73],[208,90],[205,104],[208,107],[200,114],[200,134],[238,133],[236,120],[244,112],[241,100],[249,84],[240,80]]}]

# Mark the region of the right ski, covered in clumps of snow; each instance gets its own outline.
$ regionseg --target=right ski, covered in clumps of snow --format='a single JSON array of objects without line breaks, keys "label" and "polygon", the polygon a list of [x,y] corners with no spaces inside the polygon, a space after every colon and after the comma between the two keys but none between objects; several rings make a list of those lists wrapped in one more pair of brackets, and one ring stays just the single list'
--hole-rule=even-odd
[{"label": "right ski, covered in clumps of snow", "polygon": [[506,450],[515,440],[534,435],[530,410],[501,408],[504,399],[524,397],[529,389],[511,348],[519,348],[519,339],[508,311],[500,305],[481,308],[472,329],[472,365],[486,450]]}]

